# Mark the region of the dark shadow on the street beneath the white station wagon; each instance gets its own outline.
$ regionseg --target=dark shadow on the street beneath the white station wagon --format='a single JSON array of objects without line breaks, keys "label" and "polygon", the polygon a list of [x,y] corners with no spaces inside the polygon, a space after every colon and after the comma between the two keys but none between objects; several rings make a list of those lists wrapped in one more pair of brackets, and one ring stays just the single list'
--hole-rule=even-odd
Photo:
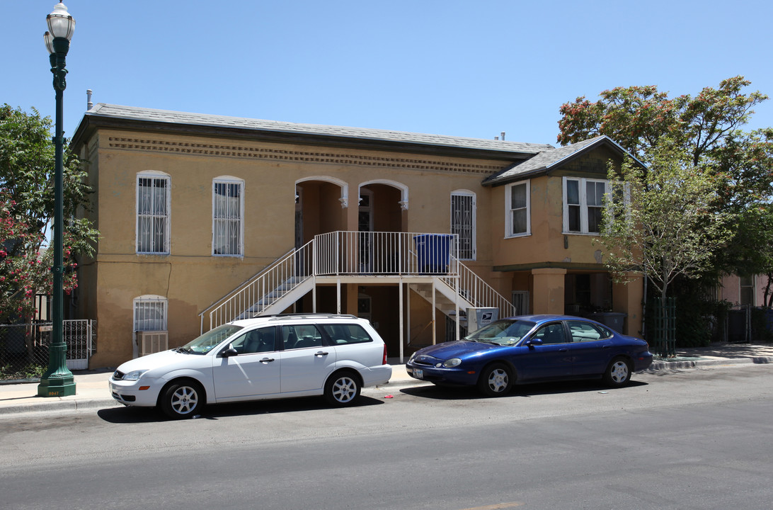
[{"label": "dark shadow on the street beneath the white station wagon", "polygon": [[[380,406],[384,402],[379,399],[372,399],[363,395],[348,406],[348,409]],[[330,406],[322,397],[304,397],[299,399],[283,400],[259,400],[254,402],[233,402],[228,404],[213,404],[205,406],[202,411],[191,418],[185,419],[220,419],[229,416],[256,416],[263,414],[281,414],[284,412],[309,412],[321,411],[325,409],[335,409]],[[100,409],[97,416],[107,423],[158,423],[172,420],[167,418],[160,410],[153,407],[113,407],[110,409]]]}]

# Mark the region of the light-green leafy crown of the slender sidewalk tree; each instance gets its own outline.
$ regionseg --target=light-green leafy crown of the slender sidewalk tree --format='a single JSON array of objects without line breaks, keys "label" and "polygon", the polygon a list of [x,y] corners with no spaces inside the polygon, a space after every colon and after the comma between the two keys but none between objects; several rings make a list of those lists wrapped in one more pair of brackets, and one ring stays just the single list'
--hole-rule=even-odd
[{"label": "light-green leafy crown of the slender sidewalk tree", "polygon": [[670,143],[658,145],[646,171],[631,159],[619,170],[610,163],[608,179],[614,191],[599,239],[605,263],[618,280],[644,272],[665,306],[669,285],[700,276],[731,238],[732,217],[716,207],[721,181]]}]

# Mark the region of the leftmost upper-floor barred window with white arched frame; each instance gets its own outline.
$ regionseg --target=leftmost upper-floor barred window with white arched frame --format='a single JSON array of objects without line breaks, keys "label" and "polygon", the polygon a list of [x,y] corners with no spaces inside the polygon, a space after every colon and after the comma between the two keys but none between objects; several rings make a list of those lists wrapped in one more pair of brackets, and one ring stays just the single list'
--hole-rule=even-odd
[{"label": "leftmost upper-floor barred window with white arched frame", "polygon": [[167,176],[137,176],[137,252],[169,253]]}]

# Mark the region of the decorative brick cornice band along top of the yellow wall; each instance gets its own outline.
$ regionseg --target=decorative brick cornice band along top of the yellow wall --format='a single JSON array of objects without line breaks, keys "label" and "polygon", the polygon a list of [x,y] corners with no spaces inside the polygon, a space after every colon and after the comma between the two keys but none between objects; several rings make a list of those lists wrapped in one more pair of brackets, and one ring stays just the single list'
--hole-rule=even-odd
[{"label": "decorative brick cornice band along top of the yellow wall", "polygon": [[239,159],[264,159],[276,162],[317,163],[330,165],[377,166],[381,168],[414,169],[430,172],[477,173],[489,175],[498,172],[502,166],[475,163],[455,163],[437,159],[414,159],[389,156],[368,156],[322,151],[267,149],[244,145],[218,143],[171,142],[169,140],[125,138],[110,136],[107,145],[111,149],[145,152],[174,152],[196,156],[216,156]]}]

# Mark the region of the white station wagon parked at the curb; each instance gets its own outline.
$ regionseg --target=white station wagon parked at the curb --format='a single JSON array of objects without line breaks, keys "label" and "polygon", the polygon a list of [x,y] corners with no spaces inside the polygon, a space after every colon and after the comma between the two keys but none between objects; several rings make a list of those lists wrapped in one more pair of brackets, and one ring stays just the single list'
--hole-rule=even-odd
[{"label": "white station wagon parked at the curb", "polygon": [[365,319],[281,315],[235,320],[169,351],[127,361],[113,398],[183,418],[205,404],[325,395],[348,406],[361,388],[392,376],[386,346]]}]

